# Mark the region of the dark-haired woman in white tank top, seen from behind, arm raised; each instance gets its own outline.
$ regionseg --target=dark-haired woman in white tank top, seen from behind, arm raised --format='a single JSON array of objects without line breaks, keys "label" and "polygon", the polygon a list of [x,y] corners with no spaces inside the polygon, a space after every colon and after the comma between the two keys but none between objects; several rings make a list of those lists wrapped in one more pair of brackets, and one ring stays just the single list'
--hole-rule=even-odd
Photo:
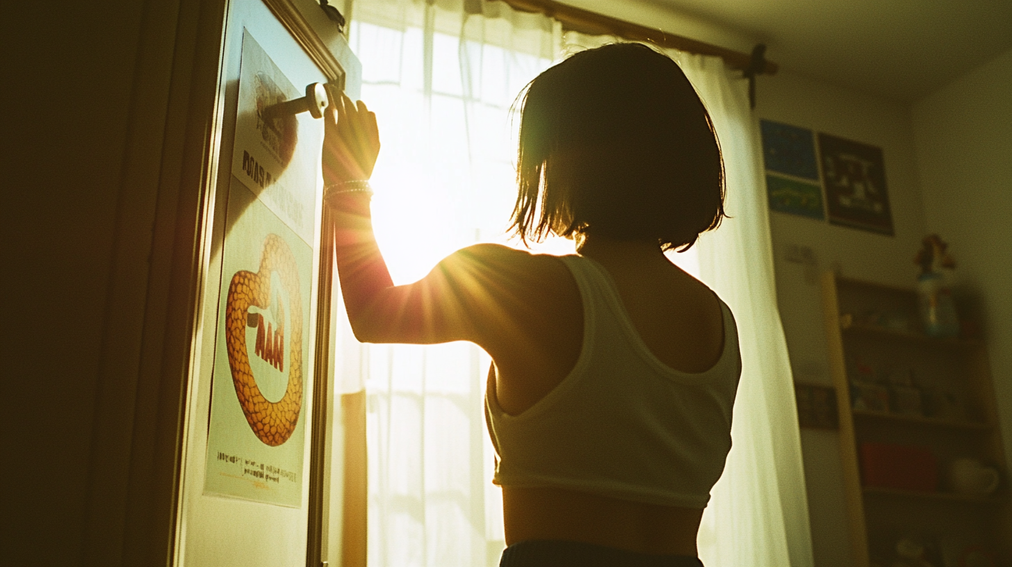
[{"label": "dark-haired woman in white tank top, seen from behind, arm raised", "polygon": [[371,229],[375,115],[332,99],[325,199],[356,338],[469,340],[492,356],[500,565],[700,565],[741,358],[727,305],[664,255],[725,217],[720,148],[681,69],[619,44],[541,73],[521,104],[511,228],[572,238],[577,254],[476,244],[408,286]]}]

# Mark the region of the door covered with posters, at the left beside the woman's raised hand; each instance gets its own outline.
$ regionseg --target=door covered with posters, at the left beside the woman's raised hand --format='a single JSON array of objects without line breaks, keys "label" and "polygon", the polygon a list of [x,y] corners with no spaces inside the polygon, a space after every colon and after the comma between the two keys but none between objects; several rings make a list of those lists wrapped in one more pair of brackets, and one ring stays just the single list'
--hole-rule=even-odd
[{"label": "door covered with posters, at the left beside the woman's raised hand", "polygon": [[312,0],[235,0],[225,17],[175,563],[316,566],[340,556],[326,518],[343,421],[323,120],[308,106],[314,83],[357,98],[358,62]]}]

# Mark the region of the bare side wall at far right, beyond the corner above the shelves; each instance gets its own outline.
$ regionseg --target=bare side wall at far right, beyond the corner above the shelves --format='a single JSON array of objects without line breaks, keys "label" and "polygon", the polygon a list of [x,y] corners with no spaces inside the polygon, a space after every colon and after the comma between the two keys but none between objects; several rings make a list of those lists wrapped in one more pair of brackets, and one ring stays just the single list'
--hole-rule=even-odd
[{"label": "bare side wall at far right, beyond the corner above the shelves", "polygon": [[915,103],[913,125],[928,229],[949,243],[958,286],[981,302],[1010,459],[1012,50]]}]

